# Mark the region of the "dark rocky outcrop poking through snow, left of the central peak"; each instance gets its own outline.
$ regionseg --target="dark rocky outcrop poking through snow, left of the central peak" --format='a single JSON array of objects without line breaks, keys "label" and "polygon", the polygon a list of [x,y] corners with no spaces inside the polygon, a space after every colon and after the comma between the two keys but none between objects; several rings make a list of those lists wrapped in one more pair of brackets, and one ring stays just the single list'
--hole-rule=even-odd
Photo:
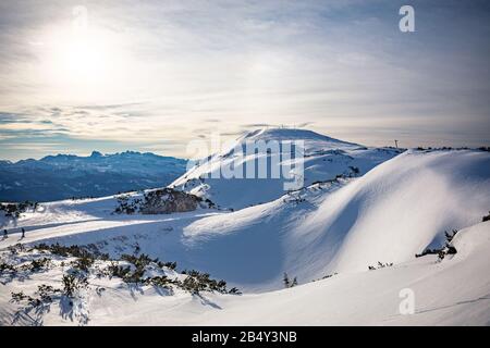
[{"label": "dark rocky outcrop poking through snow, left of the central peak", "polygon": [[139,207],[142,214],[169,214],[196,210],[200,198],[171,188],[161,188],[145,194]]}]

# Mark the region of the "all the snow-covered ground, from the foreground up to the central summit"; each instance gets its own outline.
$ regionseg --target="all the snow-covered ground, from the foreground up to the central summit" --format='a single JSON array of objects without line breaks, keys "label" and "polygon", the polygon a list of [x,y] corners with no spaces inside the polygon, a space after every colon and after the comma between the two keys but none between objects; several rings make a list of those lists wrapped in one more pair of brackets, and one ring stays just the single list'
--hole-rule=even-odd
[{"label": "all the snow-covered ground, from the foreground up to the central summit", "polygon": [[[22,314],[25,301],[13,302],[11,293],[36,294],[42,284],[60,287],[61,276],[73,269],[66,264],[76,261],[70,254],[56,256],[44,271],[17,278],[29,269],[27,262],[49,256],[36,249],[17,253],[7,249],[22,241],[27,246],[77,245],[96,254],[107,253],[83,271],[89,286],[79,290],[78,304],[71,310],[71,318],[77,318],[82,309],[82,316],[89,318],[84,321],[87,324],[488,325],[490,152],[408,150],[394,157],[395,150],[387,149],[390,158],[383,160],[383,150],[366,150],[304,130],[271,129],[247,137],[291,140],[292,134],[299,133],[307,151],[317,151],[309,153],[319,170],[308,172],[305,164],[304,188],[278,189],[274,195],[279,196],[265,203],[257,203],[267,187],[260,179],[243,184],[246,190],[238,179],[230,184],[220,179],[213,184],[230,191],[215,192],[210,185],[209,197],[223,204],[226,199],[232,202],[233,196],[248,195],[241,206],[245,201],[255,206],[233,212],[200,207],[171,214],[114,214],[118,198],[106,197],[42,203],[17,220],[3,219],[10,236],[0,240],[5,270],[0,277],[0,323],[11,324],[15,318],[17,324],[38,323]],[[323,164],[323,158],[332,162]],[[226,153],[209,159],[228,160]],[[328,163],[335,163],[334,170]],[[339,172],[353,165],[359,167],[359,175]],[[187,178],[199,177],[198,171],[189,171]],[[266,192],[268,198],[274,195]],[[26,229],[24,239],[21,227]],[[427,248],[432,251],[416,258]],[[179,275],[166,266],[156,270],[156,262],[142,269],[140,276],[146,278],[140,283],[107,276],[114,273],[114,262],[127,264],[123,254],[142,253],[176,261],[176,272],[210,273],[244,295],[203,290],[196,296],[177,281],[168,291],[149,276],[163,272],[182,279],[194,273]],[[19,274],[12,275],[12,270]],[[281,289],[284,273],[296,277],[299,285]],[[415,294],[414,314],[401,313],[402,290]],[[59,301],[64,312],[65,295],[57,296],[54,304]],[[77,323],[65,318],[70,316],[49,311],[42,313],[41,322]]]}]

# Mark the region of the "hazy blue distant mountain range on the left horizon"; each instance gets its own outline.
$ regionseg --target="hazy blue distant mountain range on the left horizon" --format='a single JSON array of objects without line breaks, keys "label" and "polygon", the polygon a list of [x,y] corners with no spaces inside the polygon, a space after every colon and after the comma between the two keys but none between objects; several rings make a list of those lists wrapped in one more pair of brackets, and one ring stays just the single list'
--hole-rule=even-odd
[{"label": "hazy blue distant mountain range on the left horizon", "polygon": [[167,186],[185,173],[186,163],[173,157],[134,151],[0,161],[0,201],[102,197]]}]

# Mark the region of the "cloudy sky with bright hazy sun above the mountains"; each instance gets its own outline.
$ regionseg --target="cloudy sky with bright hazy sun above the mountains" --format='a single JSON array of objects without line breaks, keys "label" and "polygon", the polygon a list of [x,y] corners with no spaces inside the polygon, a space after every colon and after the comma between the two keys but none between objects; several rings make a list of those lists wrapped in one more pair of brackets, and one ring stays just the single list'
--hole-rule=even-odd
[{"label": "cloudy sky with bright hazy sun above the mountains", "polygon": [[2,0],[0,159],[187,158],[265,126],[489,146],[489,37],[485,0]]}]

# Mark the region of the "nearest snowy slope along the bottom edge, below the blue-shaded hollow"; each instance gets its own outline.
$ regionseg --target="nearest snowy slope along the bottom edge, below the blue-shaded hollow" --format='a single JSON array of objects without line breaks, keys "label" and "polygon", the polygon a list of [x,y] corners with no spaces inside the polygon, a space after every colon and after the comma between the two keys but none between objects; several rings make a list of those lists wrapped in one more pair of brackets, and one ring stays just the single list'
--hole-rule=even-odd
[{"label": "nearest snowy slope along the bottom edge, below the blue-shaded hollow", "polygon": [[[65,307],[53,303],[40,323],[77,325],[76,312],[83,312],[88,325],[489,325],[490,222],[462,229],[452,244],[458,252],[442,262],[427,256],[266,294],[170,296],[151,286],[131,288],[97,278],[94,285],[102,286],[103,293],[85,294],[74,315],[63,315]],[[15,318],[10,291],[58,286],[60,273],[54,269],[0,287],[0,325]],[[413,294],[413,314],[400,311],[405,299],[401,294],[407,290]],[[34,314],[15,323],[32,325]]]}]

